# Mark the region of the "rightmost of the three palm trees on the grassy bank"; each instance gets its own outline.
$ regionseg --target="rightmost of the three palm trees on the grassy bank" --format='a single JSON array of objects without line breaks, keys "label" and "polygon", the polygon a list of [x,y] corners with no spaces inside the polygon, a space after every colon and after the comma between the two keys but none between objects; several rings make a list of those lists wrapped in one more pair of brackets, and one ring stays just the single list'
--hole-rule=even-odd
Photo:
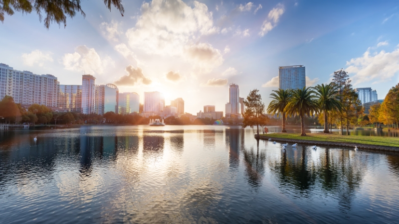
[{"label": "rightmost of the three palm trees on the grassy bank", "polygon": [[328,112],[341,111],[342,105],[340,101],[340,95],[338,86],[332,83],[324,85],[317,85],[313,88],[316,92],[319,104],[319,109],[323,111],[324,115],[324,133],[328,131]]}]

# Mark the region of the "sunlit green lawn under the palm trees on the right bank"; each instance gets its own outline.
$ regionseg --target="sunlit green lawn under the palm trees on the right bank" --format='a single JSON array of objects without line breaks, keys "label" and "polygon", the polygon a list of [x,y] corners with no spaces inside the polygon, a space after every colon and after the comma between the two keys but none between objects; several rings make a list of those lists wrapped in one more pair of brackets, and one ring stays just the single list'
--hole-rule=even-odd
[{"label": "sunlit green lawn under the palm trees on the right bank", "polygon": [[268,138],[287,138],[297,140],[311,140],[311,141],[330,141],[330,142],[347,142],[360,143],[369,145],[383,145],[399,147],[398,137],[380,137],[380,136],[358,136],[358,135],[336,135],[336,134],[306,134],[301,136],[299,133],[270,133],[260,134]]}]

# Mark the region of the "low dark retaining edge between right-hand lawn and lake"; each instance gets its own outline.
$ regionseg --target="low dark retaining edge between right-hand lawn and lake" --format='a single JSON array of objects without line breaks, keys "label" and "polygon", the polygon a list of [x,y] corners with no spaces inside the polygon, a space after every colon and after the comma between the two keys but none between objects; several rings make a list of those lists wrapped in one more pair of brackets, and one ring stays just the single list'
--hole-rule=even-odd
[{"label": "low dark retaining edge between right-hand lawn and lake", "polygon": [[342,147],[355,147],[358,146],[359,149],[372,149],[377,151],[391,151],[391,152],[399,152],[399,147],[395,146],[384,146],[384,145],[369,145],[369,144],[358,144],[358,143],[349,143],[349,142],[337,142],[337,141],[316,141],[316,140],[298,140],[298,139],[290,139],[290,138],[276,138],[276,137],[267,137],[267,136],[259,136],[262,140],[272,141],[281,141],[281,142],[293,142],[293,143],[302,143],[308,145],[324,145],[324,146],[342,146]]}]

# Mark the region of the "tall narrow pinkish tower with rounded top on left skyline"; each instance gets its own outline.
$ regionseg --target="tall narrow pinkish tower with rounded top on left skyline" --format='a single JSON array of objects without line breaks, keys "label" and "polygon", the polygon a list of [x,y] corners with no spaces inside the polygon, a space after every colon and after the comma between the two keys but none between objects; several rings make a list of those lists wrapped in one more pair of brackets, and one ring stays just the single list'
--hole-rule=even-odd
[{"label": "tall narrow pinkish tower with rounded top on left skyline", "polygon": [[82,113],[90,114],[95,112],[96,99],[96,78],[92,75],[82,76]]}]

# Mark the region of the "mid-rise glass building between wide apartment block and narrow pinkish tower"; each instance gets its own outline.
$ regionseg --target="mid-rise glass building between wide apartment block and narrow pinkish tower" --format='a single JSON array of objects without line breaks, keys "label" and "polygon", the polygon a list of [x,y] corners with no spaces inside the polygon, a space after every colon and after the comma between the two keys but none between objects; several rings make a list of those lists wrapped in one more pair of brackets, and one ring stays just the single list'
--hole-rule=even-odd
[{"label": "mid-rise glass building between wide apartment block and narrow pinkish tower", "polygon": [[57,107],[66,112],[82,112],[82,86],[58,85]]}]

